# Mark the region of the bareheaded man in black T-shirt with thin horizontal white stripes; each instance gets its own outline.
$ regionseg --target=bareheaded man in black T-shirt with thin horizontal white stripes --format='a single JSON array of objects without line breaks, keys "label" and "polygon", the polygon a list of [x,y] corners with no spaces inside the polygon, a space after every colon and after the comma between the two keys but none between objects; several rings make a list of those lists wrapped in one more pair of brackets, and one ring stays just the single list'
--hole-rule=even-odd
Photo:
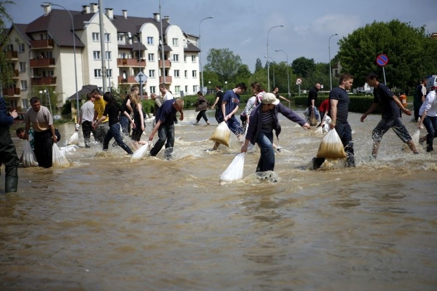
[{"label": "bareheaded man in black T-shirt with thin horizontal white stripes", "polygon": [[[355,167],[355,157],[353,154],[352,130],[347,121],[349,111],[349,95],[346,90],[350,90],[353,84],[351,74],[343,74],[340,77],[340,85],[329,92],[329,112],[331,116],[330,129],[335,129],[339,135],[344,151],[346,153],[345,167]],[[323,144],[321,144],[321,147]],[[317,156],[312,159],[312,168],[319,169],[325,161],[324,156]]]}]

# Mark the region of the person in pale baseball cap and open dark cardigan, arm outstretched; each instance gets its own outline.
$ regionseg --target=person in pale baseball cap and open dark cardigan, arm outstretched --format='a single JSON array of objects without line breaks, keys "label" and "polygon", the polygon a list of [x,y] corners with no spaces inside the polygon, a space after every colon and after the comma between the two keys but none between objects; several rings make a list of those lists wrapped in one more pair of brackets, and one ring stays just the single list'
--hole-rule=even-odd
[{"label": "person in pale baseball cap and open dark cardigan, arm outstretched", "polygon": [[256,142],[260,147],[261,157],[256,166],[256,172],[273,171],[274,169],[273,130],[275,130],[278,140],[281,133],[281,126],[277,118],[278,113],[299,123],[303,129],[310,129],[310,125],[302,117],[283,106],[274,94],[264,94],[262,103],[256,106],[250,114],[246,140],[241,147],[242,153],[247,151],[249,142],[252,144]]}]

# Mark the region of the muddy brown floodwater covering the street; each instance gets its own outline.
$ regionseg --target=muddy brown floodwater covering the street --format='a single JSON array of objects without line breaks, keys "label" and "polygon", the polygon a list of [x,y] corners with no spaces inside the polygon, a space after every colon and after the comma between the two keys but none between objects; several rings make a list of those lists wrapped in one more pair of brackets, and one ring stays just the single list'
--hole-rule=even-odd
[{"label": "muddy brown floodwater covering the street", "polygon": [[[207,113],[212,126],[185,112],[173,160],[95,145],[66,168],[19,169],[18,193],[0,195],[0,289],[437,289],[436,153],[405,153],[390,130],[368,161],[380,116],[351,113],[357,167],[310,171],[322,137],[281,116],[277,182],[255,175],[255,147],[244,178],[221,185],[240,147],[231,135],[205,151]],[[62,146],[74,124],[59,130]]]}]

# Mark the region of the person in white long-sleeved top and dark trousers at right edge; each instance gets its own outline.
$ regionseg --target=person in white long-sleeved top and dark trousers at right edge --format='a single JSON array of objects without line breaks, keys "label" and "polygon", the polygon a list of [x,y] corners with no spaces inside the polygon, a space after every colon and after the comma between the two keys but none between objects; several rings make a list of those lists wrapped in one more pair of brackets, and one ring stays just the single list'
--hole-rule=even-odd
[{"label": "person in white long-sleeved top and dark trousers at right edge", "polygon": [[426,151],[431,152],[432,142],[434,137],[437,137],[437,96],[435,87],[431,87],[428,95],[426,95],[425,102],[419,109],[419,115],[421,116],[418,128],[422,128],[422,123],[425,126],[428,134],[419,139],[419,143],[423,143],[426,140]]}]

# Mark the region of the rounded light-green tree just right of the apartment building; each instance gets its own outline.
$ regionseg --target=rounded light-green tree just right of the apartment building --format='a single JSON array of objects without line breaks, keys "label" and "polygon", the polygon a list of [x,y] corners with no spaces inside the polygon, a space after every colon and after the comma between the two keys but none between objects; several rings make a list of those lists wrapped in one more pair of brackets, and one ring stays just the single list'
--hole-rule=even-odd
[{"label": "rounded light-green tree just right of the apartment building", "polygon": [[241,57],[229,49],[210,49],[207,60],[205,70],[216,73],[222,83],[233,79],[242,65]]}]

